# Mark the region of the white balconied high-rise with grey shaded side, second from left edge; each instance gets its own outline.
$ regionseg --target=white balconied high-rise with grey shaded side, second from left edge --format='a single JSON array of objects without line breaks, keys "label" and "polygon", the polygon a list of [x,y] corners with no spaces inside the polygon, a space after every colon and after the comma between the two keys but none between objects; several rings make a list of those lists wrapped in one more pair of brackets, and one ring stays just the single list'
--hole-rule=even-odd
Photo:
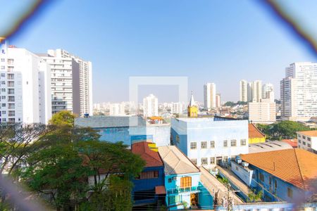
[{"label": "white balconied high-rise with grey shaded side, second from left edge", "polygon": [[52,112],[92,115],[92,63],[63,49],[40,56],[51,65]]}]

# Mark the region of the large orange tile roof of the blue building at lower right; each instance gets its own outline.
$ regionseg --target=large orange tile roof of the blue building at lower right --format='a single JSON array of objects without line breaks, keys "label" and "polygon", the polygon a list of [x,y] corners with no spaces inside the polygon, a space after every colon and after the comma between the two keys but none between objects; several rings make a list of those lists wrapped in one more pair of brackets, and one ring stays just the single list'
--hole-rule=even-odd
[{"label": "large orange tile roof of the blue building at lower right", "polygon": [[300,148],[241,155],[242,160],[307,191],[317,191],[317,155]]}]

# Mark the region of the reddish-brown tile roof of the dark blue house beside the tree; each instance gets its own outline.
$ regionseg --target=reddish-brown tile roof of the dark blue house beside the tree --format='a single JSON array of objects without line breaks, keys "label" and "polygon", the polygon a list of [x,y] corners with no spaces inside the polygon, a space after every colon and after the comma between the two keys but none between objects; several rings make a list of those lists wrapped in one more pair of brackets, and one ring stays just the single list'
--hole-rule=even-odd
[{"label": "reddish-brown tile roof of the dark blue house beside the tree", "polygon": [[147,162],[145,167],[163,166],[159,153],[154,152],[149,148],[149,142],[142,141],[133,143],[131,151],[134,154],[140,155],[141,158]]}]

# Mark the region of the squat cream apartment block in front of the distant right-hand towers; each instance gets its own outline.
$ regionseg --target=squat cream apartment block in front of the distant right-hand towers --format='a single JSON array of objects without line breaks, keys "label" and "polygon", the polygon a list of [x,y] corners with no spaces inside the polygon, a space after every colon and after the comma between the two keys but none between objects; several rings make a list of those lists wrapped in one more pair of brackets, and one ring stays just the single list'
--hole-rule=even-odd
[{"label": "squat cream apartment block in front of the distant right-hand towers", "polygon": [[254,123],[273,123],[276,120],[275,103],[270,99],[252,101],[249,106],[249,121]]}]

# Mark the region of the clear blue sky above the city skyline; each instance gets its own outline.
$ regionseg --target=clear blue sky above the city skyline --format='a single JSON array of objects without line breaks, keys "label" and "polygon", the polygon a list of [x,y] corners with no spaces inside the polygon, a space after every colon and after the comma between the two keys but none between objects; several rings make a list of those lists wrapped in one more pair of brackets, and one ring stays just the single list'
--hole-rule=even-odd
[{"label": "clear blue sky above the city skyline", "polygon": [[[285,2],[316,38],[317,1]],[[19,0],[3,4],[11,4],[6,20],[26,7]],[[263,4],[247,0],[56,1],[10,43],[35,53],[62,48],[91,60],[94,102],[126,101],[130,76],[156,75],[187,76],[198,101],[206,82],[216,83],[222,101],[237,101],[240,79],[271,82],[278,98],[287,65],[316,61]],[[177,98],[175,87],[146,90],[161,102]]]}]

